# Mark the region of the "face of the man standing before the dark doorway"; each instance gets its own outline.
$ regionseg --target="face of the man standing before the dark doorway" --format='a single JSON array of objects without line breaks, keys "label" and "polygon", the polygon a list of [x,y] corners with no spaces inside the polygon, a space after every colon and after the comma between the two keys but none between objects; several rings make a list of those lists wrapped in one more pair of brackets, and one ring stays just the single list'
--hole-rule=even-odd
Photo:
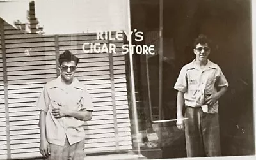
[{"label": "face of the man standing before the dark doorway", "polygon": [[208,44],[200,44],[198,43],[196,45],[196,48],[194,49],[194,54],[196,55],[196,60],[198,61],[207,61],[208,56],[211,52],[211,48],[208,47]]}]

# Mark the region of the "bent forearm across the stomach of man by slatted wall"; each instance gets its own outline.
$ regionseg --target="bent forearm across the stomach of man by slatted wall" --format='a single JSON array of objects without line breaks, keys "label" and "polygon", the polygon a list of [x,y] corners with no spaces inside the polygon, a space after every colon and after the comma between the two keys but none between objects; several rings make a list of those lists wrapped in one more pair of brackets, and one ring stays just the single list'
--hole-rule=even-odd
[{"label": "bent forearm across the stomach of man by slatted wall", "polygon": [[54,117],[56,119],[59,119],[61,117],[65,117],[65,116],[74,117],[74,118],[80,119],[80,120],[91,120],[92,119],[92,111],[65,110],[62,107],[52,110],[52,115],[54,115]]}]

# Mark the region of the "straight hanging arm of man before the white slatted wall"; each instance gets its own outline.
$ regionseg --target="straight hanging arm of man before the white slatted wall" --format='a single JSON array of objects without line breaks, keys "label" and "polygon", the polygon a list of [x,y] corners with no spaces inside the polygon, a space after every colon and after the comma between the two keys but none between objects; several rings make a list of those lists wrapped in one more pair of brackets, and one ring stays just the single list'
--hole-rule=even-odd
[{"label": "straight hanging arm of man before the white slatted wall", "polygon": [[46,138],[46,122],[45,122],[46,114],[47,114],[47,112],[45,112],[44,110],[41,110],[40,122],[39,122],[39,125],[40,125],[40,153],[44,157],[49,157],[50,147],[49,147],[49,143],[47,142],[47,138]]}]

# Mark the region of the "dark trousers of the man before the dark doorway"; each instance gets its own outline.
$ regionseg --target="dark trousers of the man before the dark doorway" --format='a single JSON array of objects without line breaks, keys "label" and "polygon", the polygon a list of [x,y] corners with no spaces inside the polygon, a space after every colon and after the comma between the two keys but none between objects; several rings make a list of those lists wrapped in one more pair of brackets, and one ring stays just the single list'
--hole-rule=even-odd
[{"label": "dark trousers of the man before the dark doorway", "polygon": [[186,106],[185,117],[187,157],[221,156],[218,113]]}]

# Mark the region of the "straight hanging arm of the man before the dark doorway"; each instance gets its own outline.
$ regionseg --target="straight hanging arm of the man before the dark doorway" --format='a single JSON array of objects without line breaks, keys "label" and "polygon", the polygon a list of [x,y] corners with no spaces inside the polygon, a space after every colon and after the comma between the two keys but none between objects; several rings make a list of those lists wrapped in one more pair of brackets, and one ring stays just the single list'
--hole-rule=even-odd
[{"label": "straight hanging arm of the man before the dark doorway", "polygon": [[178,129],[183,129],[184,128],[184,124],[183,124],[183,106],[184,106],[184,93],[178,91],[177,93],[177,122],[176,122],[176,126]]}]

